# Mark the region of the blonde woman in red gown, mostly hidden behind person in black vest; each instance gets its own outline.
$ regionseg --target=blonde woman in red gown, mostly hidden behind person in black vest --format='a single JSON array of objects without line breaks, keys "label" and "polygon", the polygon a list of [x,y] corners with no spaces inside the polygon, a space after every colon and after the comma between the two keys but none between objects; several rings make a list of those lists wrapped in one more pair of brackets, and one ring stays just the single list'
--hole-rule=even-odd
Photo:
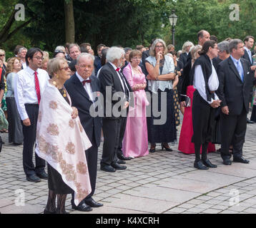
[{"label": "blonde woman in red gown, mostly hidden behind person in black vest", "polygon": [[[197,45],[194,46],[190,53],[192,56],[191,60],[191,68],[193,66],[193,63],[195,63],[195,60],[200,56],[198,54],[198,51],[202,49],[202,46]],[[187,66],[187,64],[186,64]],[[187,66],[187,67],[190,67]],[[190,70],[190,69],[189,69]],[[189,73],[185,77],[189,77]],[[184,83],[184,82],[183,82]],[[185,154],[193,154],[195,153],[195,145],[194,142],[191,142],[192,135],[193,135],[193,124],[192,124],[192,103],[193,103],[193,93],[195,92],[194,86],[187,86],[187,96],[190,98],[190,105],[189,107],[184,108],[184,116],[182,121],[182,129],[180,130],[179,135],[179,147],[178,150],[181,152],[184,152]],[[202,148],[201,148],[202,150]],[[208,145],[208,152],[214,152],[215,151],[215,145],[212,144],[212,142]]]}]

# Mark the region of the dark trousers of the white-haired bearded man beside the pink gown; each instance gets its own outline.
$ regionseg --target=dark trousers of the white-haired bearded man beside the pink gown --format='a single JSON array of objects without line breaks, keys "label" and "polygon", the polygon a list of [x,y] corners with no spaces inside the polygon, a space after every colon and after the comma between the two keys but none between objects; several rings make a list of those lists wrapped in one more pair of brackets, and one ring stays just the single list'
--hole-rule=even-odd
[{"label": "dark trousers of the white-haired bearded man beside the pink gown", "polygon": [[119,138],[122,118],[110,119],[103,118],[102,130],[104,136],[102,150],[102,165],[111,165],[117,161],[117,149],[119,147]]}]

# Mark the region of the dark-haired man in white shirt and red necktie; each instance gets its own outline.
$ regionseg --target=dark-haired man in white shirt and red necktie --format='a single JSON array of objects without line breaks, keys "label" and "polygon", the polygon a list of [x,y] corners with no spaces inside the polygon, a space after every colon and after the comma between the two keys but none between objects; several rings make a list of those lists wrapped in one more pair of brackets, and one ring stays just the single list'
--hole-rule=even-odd
[{"label": "dark-haired man in white shirt and red necktie", "polygon": [[26,53],[26,68],[17,73],[14,83],[14,95],[24,135],[23,167],[26,180],[31,182],[48,178],[44,171],[45,161],[35,155],[36,166],[33,163],[39,103],[49,80],[48,73],[40,69],[43,59],[43,52],[39,48],[30,48]]}]

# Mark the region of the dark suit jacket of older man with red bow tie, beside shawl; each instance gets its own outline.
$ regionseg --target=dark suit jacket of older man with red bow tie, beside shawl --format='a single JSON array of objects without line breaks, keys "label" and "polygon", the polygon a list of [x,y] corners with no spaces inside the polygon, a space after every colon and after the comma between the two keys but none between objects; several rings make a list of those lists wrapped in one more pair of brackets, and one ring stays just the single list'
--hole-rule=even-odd
[{"label": "dark suit jacket of older man with red bow tie, beside shawl", "polygon": [[[90,79],[92,80],[92,91],[98,92],[99,79],[95,76],[90,76]],[[79,78],[77,78],[76,74],[69,78],[69,80],[64,83],[64,86],[70,95],[72,106],[76,107],[78,110],[81,124],[84,128],[84,131],[87,133],[89,140],[93,142],[92,137],[94,137],[94,140],[99,147],[102,129],[102,118],[93,118],[90,115],[89,108],[92,105],[92,101],[89,99],[87,91],[84,89],[84,86],[82,86],[82,83]],[[97,101],[97,97],[94,101]]]}]

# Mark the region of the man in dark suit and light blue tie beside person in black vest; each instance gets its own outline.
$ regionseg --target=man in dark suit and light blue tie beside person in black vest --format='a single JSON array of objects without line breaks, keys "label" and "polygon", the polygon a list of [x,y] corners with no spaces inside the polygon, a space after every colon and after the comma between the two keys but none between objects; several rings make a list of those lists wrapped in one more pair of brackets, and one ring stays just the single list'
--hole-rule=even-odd
[{"label": "man in dark suit and light blue tie beside person in black vest", "polygon": [[222,100],[221,157],[225,165],[231,165],[230,145],[233,145],[233,162],[249,163],[249,160],[242,157],[242,146],[252,91],[250,63],[241,58],[245,54],[244,43],[234,39],[230,41],[229,48],[230,57],[219,63],[217,68],[220,81],[217,95]]}]

